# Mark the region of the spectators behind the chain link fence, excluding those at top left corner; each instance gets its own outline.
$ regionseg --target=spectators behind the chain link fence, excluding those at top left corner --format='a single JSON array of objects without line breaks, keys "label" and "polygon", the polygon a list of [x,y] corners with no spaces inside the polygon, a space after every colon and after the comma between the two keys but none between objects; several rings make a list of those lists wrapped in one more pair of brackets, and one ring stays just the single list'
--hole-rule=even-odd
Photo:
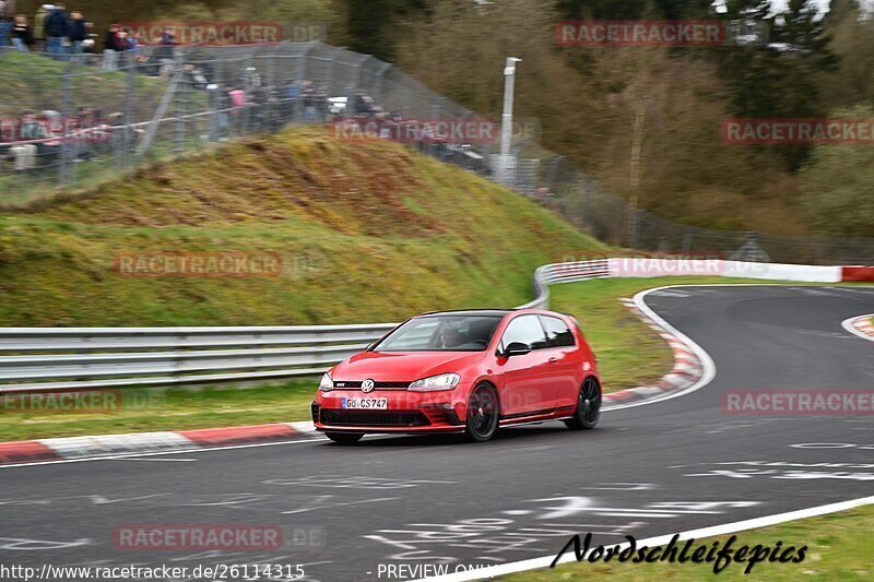
[{"label": "spectators behind the chain link fence, excluding those at top left corner", "polygon": [[[210,82],[215,71],[193,64],[184,68],[187,83],[193,90],[210,95],[212,114],[201,117],[205,121],[209,141],[225,141],[232,135],[253,132],[275,132],[287,123],[366,122],[378,120],[381,138],[393,140],[416,134],[412,142],[417,147],[444,162],[469,169],[484,164],[482,156],[473,155],[464,145],[441,135],[427,132],[403,131],[408,120],[397,111],[387,111],[376,99],[363,91],[345,97],[329,97],[323,86],[311,80],[288,80],[282,85],[265,85],[261,76],[249,71],[228,84]],[[194,131],[199,131],[194,128]],[[130,128],[120,112],[105,116],[101,110],[80,107],[64,119],[57,111],[22,111],[19,119],[0,119],[0,159],[5,158],[16,171],[29,171],[54,166],[62,146],[68,145],[64,159],[96,159],[103,153],[132,149],[144,130]]]}]

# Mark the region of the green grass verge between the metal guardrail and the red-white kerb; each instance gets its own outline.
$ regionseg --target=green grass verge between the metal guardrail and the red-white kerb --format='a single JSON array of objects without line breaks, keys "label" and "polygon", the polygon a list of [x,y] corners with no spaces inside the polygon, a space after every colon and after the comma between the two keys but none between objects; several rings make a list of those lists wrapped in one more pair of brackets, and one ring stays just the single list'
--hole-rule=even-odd
[{"label": "green grass verge between the metal guardrail and the red-white kerb", "polygon": [[[612,392],[658,380],[673,364],[664,341],[618,298],[662,285],[727,281],[731,280],[615,278],[556,285],[551,288],[552,308],[577,314],[587,341],[599,356],[604,390]],[[316,385],[316,378],[307,378],[245,389],[234,385],[198,390],[122,389],[120,409],[94,414],[23,412],[14,406],[5,409],[0,406],[0,441],[306,420]],[[133,404],[128,405],[129,402]]]}]

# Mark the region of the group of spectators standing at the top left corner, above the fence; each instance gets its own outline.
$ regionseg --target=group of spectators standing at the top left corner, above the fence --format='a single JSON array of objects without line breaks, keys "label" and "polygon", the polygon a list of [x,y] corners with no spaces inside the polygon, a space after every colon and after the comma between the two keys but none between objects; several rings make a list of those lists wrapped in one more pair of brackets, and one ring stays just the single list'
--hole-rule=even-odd
[{"label": "group of spectators standing at the top left corner, above the fence", "polygon": [[32,25],[27,16],[15,13],[15,0],[0,0],[0,46],[55,56],[94,52],[92,28],[82,12],[68,13],[63,4],[43,4]]}]

